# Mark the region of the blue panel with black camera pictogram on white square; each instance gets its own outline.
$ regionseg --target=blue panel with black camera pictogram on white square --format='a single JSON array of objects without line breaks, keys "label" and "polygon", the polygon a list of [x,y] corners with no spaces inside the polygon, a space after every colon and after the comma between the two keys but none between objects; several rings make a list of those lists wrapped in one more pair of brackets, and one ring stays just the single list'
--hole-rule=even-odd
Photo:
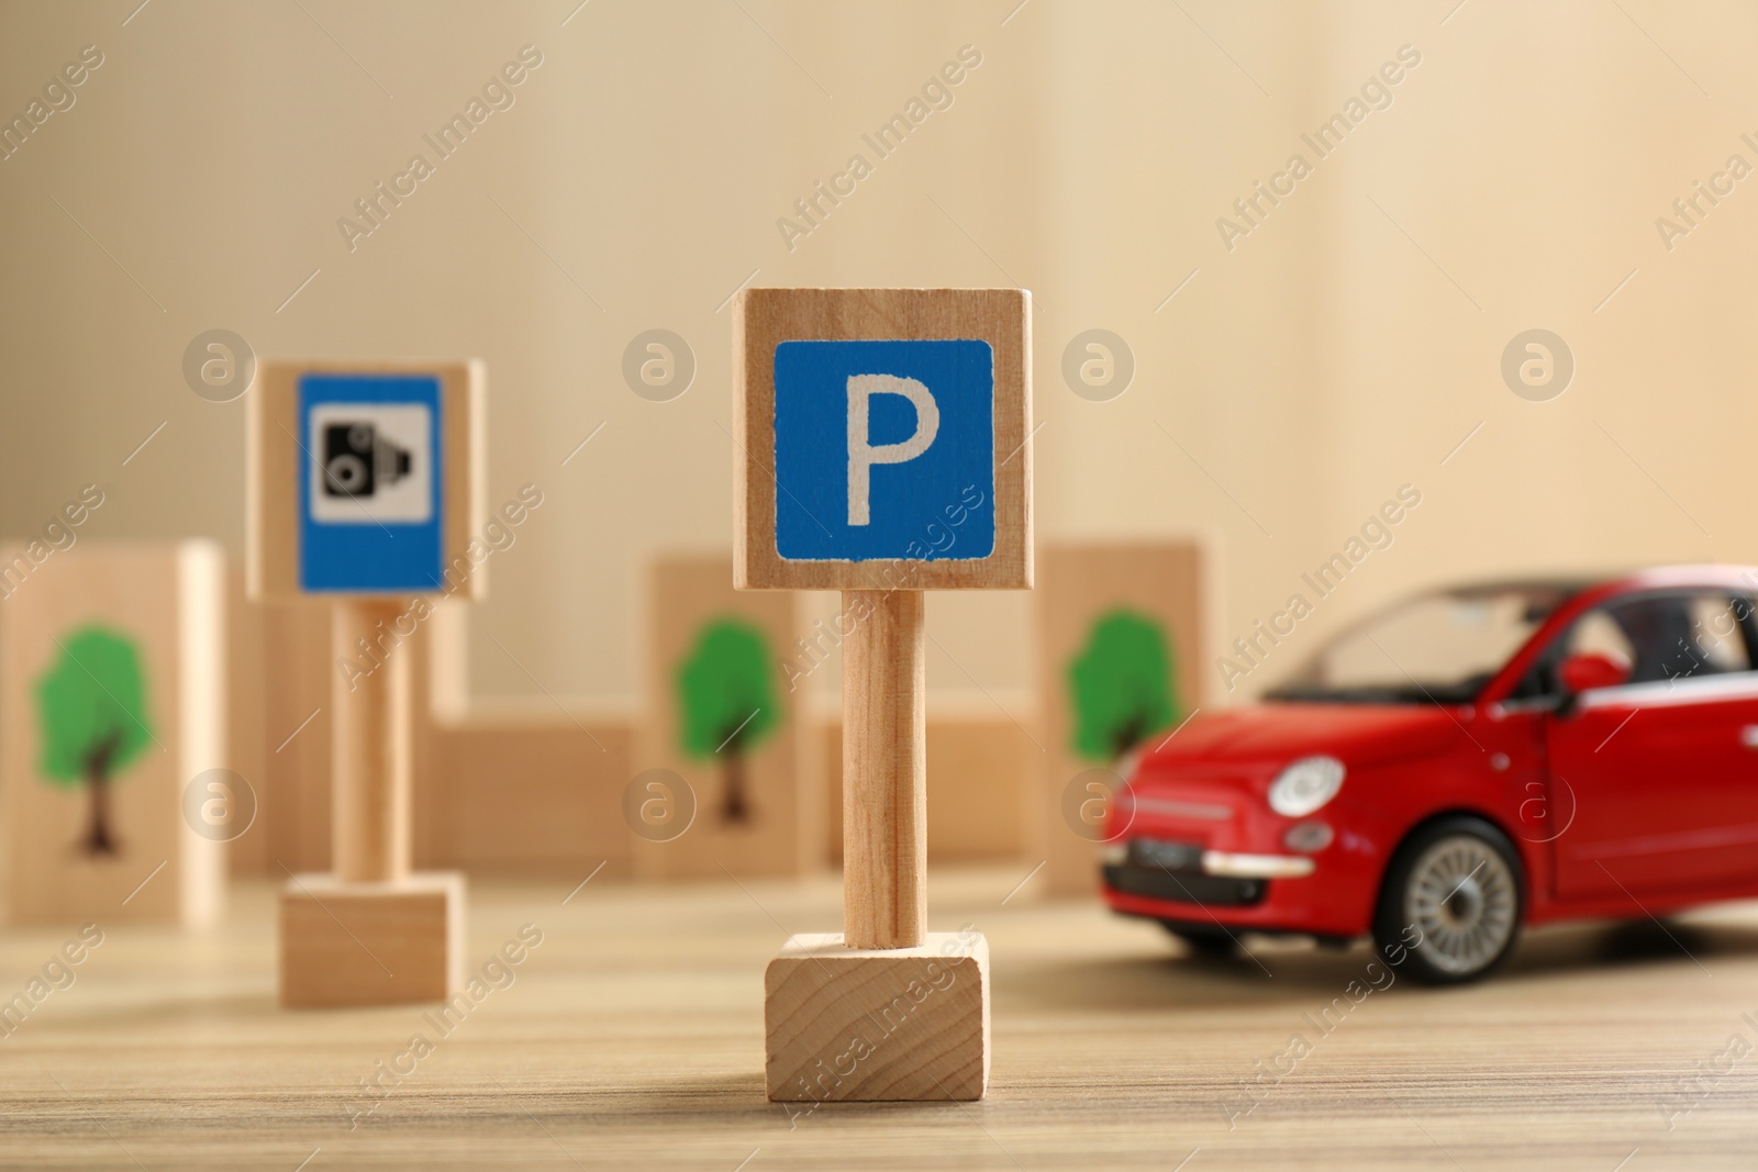
[{"label": "blue panel with black camera pictogram on white square", "polygon": [[313,592],[443,589],[440,380],[299,380],[299,585]]}]

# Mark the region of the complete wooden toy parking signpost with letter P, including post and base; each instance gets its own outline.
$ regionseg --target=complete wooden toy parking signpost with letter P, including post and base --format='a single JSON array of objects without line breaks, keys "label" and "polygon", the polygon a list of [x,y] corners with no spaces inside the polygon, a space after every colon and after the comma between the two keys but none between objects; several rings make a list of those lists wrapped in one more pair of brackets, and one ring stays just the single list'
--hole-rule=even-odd
[{"label": "complete wooden toy parking signpost with letter P, including post and base", "polygon": [[1032,585],[1025,290],[754,288],[733,309],[733,585],[842,590],[842,933],[765,975],[768,1096],[969,1100],[988,944],[926,931],[923,590]]}]

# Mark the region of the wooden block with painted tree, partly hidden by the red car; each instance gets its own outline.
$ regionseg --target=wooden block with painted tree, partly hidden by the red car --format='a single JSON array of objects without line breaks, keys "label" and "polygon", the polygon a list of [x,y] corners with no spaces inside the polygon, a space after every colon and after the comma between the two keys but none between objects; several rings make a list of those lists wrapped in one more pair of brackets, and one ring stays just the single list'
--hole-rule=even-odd
[{"label": "wooden block with painted tree, partly hidden by the red car", "polygon": [[1046,752],[1025,812],[1041,891],[1097,893],[1116,789],[1202,705],[1211,571],[1194,538],[1044,543],[1034,601]]}]

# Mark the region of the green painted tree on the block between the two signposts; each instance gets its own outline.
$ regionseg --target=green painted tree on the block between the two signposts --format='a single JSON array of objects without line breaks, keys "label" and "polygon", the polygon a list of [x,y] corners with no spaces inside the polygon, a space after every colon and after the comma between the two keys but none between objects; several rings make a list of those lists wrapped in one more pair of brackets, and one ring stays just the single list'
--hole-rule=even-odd
[{"label": "green painted tree on the block between the two signposts", "polygon": [[742,619],[710,620],[677,669],[684,754],[721,763],[721,821],[751,821],[745,754],[781,724],[768,640]]}]

